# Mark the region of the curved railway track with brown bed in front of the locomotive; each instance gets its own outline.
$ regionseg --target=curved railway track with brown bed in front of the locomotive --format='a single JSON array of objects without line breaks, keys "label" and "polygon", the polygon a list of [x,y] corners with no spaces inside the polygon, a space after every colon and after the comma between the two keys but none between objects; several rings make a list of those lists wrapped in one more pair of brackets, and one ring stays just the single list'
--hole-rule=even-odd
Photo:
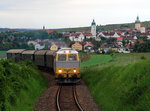
[{"label": "curved railway track with brown bed in front of the locomotive", "polygon": [[60,85],[56,99],[58,111],[83,111],[78,102],[75,85]]}]

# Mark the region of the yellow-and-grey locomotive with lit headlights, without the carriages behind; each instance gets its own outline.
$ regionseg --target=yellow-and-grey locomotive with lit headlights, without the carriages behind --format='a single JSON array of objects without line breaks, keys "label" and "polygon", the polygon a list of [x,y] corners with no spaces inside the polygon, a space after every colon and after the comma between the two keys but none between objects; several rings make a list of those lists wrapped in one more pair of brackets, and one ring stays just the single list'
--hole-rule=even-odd
[{"label": "yellow-and-grey locomotive with lit headlights, without the carriages behind", "polygon": [[58,83],[80,81],[80,59],[77,51],[64,48],[56,52],[54,62],[55,79]]}]

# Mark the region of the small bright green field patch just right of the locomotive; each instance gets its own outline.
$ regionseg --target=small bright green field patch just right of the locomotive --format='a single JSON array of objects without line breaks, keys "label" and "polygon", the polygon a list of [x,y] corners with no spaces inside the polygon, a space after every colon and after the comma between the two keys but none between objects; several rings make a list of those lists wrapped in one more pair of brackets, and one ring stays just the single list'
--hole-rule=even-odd
[{"label": "small bright green field patch just right of the locomotive", "polygon": [[91,58],[85,62],[81,63],[81,67],[91,67],[96,66],[100,64],[107,63],[112,60],[112,57],[110,55],[90,55]]}]

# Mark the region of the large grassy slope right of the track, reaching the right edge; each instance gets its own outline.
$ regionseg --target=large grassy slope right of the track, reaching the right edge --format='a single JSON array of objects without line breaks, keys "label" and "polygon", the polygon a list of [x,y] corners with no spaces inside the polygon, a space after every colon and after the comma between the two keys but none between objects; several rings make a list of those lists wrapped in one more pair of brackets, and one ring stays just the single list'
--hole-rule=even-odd
[{"label": "large grassy slope right of the track, reaching the right edge", "polygon": [[150,111],[149,67],[148,53],[116,54],[81,76],[103,111]]}]

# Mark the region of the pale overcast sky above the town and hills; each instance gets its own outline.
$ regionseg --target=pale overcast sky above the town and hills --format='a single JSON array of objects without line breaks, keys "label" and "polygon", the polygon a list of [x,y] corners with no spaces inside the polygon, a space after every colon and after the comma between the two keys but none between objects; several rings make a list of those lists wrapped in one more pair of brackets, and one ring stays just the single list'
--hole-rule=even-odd
[{"label": "pale overcast sky above the town and hills", "polygon": [[0,28],[71,28],[150,21],[150,0],[0,0]]}]

